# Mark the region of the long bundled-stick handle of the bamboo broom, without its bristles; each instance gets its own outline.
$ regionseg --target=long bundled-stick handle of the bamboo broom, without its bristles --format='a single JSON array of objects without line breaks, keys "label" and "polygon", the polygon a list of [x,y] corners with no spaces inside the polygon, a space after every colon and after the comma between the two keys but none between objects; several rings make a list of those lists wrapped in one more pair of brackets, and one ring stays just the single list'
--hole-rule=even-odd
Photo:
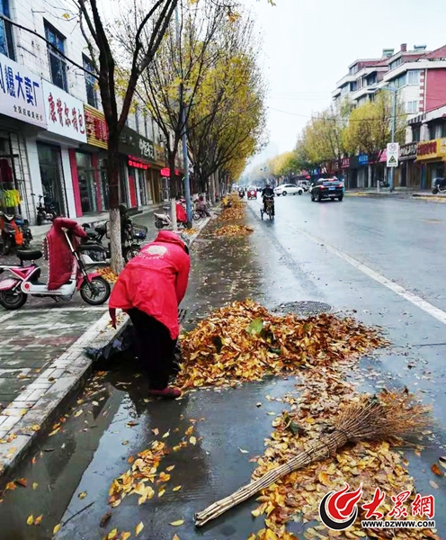
[{"label": "long bundled-stick handle of the bamboo broom, without its bristles", "polygon": [[[300,452],[298,455],[292,457],[288,463],[282,464],[279,467],[272,469],[268,473],[263,474],[263,476],[261,476],[254,482],[250,482],[243,486],[243,488],[239,488],[232,495],[229,495],[225,499],[214,502],[207,509],[204,509],[202,512],[195,514],[195,526],[202,527],[211,519],[218,518],[228,509],[232,509],[240,502],[243,502],[244,500],[249,499],[250,497],[255,495],[257,491],[268,488],[272,485],[272,483],[276,482],[276,480],[279,480],[279,478],[285,476],[285,474],[289,474],[296,469],[305,467],[308,464],[317,461],[323,457],[327,457],[328,451],[330,451],[331,453],[333,449],[336,449],[339,446],[343,446],[346,442],[346,437],[333,437],[334,435],[335,434],[332,434],[332,436],[330,437],[330,441],[327,441],[326,443],[319,442],[317,443],[317,445],[308,448],[308,450]],[[336,435],[339,436],[341,434]],[[335,438],[339,438],[342,440],[335,440]]]}]

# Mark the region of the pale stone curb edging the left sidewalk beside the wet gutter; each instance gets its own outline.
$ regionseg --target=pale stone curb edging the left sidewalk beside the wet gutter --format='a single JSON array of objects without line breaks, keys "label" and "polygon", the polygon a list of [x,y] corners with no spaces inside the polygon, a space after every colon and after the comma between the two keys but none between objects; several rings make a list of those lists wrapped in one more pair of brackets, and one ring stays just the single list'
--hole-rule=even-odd
[{"label": "pale stone curb edging the left sidewalk beside the wet gutter", "polygon": [[[192,237],[184,235],[188,245],[206,227],[211,218],[202,220]],[[183,237],[183,235],[182,235]],[[85,347],[106,347],[127,327],[129,317],[120,313],[118,328],[110,326],[105,312],[67,351],[58,356],[26,390],[0,414],[0,488],[6,477],[31,451],[34,441],[57,419],[73,394],[83,386],[92,372],[93,361],[85,355]]]}]

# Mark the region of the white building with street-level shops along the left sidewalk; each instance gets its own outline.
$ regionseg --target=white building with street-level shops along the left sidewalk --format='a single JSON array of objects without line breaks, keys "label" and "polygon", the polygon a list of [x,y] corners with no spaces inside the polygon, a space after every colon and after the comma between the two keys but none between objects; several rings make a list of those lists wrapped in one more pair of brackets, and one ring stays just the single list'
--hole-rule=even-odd
[{"label": "white building with street-level shops along the left sidewalk", "polygon": [[[39,194],[68,217],[108,209],[107,126],[71,9],[67,1],[0,2],[0,210],[31,223]],[[163,138],[138,109],[127,123],[120,201],[160,202],[169,196]]]}]

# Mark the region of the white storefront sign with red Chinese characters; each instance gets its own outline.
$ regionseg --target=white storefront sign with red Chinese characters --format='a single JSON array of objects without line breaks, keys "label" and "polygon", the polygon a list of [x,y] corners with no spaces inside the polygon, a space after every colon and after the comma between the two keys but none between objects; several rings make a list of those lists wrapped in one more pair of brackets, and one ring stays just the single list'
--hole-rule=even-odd
[{"label": "white storefront sign with red Chinese characters", "polygon": [[42,88],[49,132],[86,142],[84,103],[47,81]]}]

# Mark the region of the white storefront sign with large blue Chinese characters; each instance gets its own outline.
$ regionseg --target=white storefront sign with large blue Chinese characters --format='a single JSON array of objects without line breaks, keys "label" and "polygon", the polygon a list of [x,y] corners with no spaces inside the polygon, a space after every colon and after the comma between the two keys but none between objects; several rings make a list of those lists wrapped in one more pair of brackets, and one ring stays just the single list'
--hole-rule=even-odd
[{"label": "white storefront sign with large blue Chinese characters", "polygon": [[0,112],[47,127],[40,76],[0,54]]}]

